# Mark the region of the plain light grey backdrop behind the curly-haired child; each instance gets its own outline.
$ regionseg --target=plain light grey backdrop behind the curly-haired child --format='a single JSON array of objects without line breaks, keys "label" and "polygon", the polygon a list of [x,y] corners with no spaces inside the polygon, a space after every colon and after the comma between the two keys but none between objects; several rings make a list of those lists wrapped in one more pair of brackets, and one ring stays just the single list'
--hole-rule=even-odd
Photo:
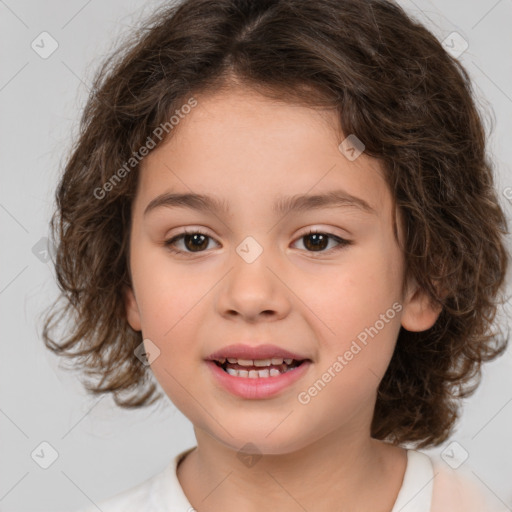
[{"label": "plain light grey backdrop behind the curly-haired child", "polygon": [[[0,0],[0,510],[67,511],[136,485],[193,446],[191,424],[166,400],[125,411],[108,397],[88,397],[39,337],[40,314],[57,293],[41,239],[70,135],[76,133],[90,80],[119,36],[161,2],[142,0]],[[510,218],[512,203],[512,0],[402,0],[441,41],[458,32],[459,57],[479,102],[492,109],[490,152]],[[41,58],[31,43],[43,31],[58,49]],[[46,46],[48,48],[48,46]],[[42,244],[42,245],[41,245]],[[35,247],[35,249],[34,249]],[[509,287],[510,291],[510,287]],[[500,322],[505,325],[506,320]],[[509,320],[510,322],[510,320]],[[452,441],[470,467],[512,510],[512,348],[484,367],[464,402]],[[58,458],[42,469],[31,458],[41,442]]]}]

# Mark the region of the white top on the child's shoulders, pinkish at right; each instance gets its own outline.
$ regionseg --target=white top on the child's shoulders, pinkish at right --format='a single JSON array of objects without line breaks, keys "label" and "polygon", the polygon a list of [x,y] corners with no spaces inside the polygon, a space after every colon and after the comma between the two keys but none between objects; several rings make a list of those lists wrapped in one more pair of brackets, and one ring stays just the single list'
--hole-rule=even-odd
[{"label": "white top on the child's shoulders, pinkish at right", "polygon": [[[195,512],[178,480],[180,460],[195,447],[176,455],[164,470],[115,496],[79,512]],[[446,467],[445,467],[446,466]],[[390,512],[505,512],[510,509],[489,501],[470,481],[442,459],[407,450],[407,466],[402,486]],[[492,504],[491,504],[492,503]]]}]

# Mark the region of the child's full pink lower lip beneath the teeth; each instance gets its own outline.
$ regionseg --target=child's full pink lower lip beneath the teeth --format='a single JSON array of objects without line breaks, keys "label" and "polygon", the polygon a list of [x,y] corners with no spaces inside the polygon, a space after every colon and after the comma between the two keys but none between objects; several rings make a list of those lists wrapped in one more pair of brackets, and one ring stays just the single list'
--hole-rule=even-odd
[{"label": "child's full pink lower lip beneath the teeth", "polygon": [[281,373],[276,377],[235,377],[225,372],[213,361],[206,361],[214,377],[227,391],[242,398],[259,399],[277,395],[283,389],[291,386],[308,371],[311,361],[304,361],[301,365]]}]

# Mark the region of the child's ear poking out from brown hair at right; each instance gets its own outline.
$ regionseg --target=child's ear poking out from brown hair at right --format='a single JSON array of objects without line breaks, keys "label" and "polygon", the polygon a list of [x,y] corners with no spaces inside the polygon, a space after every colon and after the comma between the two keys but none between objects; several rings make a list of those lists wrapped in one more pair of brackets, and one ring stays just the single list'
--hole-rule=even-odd
[{"label": "child's ear poking out from brown hair at right", "polygon": [[408,331],[426,331],[436,323],[442,310],[443,307],[432,304],[428,295],[413,281],[403,303],[402,327]]}]

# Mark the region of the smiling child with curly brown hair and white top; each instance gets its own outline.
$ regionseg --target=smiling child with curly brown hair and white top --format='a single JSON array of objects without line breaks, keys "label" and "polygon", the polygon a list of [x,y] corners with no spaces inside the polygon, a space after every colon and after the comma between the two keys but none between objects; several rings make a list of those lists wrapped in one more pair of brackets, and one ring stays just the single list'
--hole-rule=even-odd
[{"label": "smiling child with curly brown hair and white top", "polygon": [[441,43],[386,0],[185,0],[93,91],[45,342],[123,407],[151,369],[197,446],[90,510],[491,510],[418,451],[506,347],[506,219]]}]

